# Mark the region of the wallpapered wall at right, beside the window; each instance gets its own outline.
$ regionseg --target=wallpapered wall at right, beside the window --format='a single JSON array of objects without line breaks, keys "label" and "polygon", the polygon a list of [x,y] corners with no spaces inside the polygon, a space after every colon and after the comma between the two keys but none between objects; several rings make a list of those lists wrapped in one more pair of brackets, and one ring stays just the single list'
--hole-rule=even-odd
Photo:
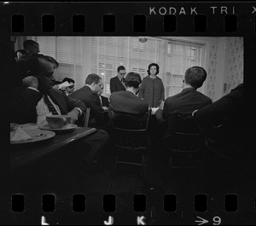
[{"label": "wallpapered wall at right, beside the window", "polygon": [[217,101],[243,82],[243,38],[223,37],[211,42],[207,96]]}]

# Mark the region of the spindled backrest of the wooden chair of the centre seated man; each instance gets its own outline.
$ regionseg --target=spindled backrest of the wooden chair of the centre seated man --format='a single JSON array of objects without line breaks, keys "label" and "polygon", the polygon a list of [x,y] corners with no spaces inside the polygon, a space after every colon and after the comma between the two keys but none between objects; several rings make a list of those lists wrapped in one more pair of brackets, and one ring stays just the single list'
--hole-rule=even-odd
[{"label": "spindled backrest of the wooden chair of the centre seated man", "polygon": [[[144,119],[138,123],[137,128],[133,126],[135,115],[127,113],[116,113],[108,108],[109,122],[112,129],[111,138],[113,145],[118,148],[130,149],[130,150],[143,150],[150,145],[150,139],[148,136],[148,124],[151,117],[151,109],[148,109],[143,117],[138,119]],[[122,124],[125,122],[125,124]],[[131,125],[128,128],[127,125]]]}]

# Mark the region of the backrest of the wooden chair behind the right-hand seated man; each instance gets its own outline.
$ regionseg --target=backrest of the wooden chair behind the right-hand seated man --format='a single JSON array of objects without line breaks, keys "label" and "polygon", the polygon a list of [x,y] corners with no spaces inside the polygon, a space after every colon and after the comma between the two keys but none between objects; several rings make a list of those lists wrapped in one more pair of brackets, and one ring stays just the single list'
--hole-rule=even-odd
[{"label": "backrest of the wooden chair behind the right-hand seated man", "polygon": [[171,113],[167,120],[170,149],[180,152],[197,152],[204,146],[199,125],[192,116]]}]

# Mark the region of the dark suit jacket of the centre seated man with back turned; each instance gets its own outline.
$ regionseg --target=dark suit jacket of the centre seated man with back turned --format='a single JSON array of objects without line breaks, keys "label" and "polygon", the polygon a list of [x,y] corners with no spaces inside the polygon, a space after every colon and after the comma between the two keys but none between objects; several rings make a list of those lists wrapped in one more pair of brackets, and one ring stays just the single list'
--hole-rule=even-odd
[{"label": "dark suit jacket of the centre seated man with back turned", "polygon": [[[110,96],[110,108],[117,113],[116,125],[126,129],[139,129],[146,122],[148,104],[130,91],[115,92]],[[130,114],[130,115],[128,115]]]}]

